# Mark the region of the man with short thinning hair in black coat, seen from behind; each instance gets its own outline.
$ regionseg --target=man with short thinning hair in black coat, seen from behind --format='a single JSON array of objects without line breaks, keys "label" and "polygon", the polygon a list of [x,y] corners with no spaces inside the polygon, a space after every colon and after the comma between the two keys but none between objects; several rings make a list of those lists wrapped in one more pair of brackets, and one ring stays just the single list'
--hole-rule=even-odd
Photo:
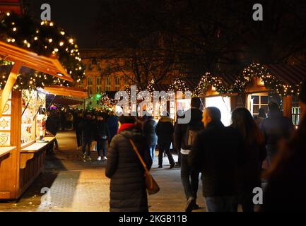
[{"label": "man with short thinning hair in black coat, seen from behind", "polygon": [[242,162],[240,133],[221,122],[220,110],[207,107],[203,113],[205,129],[197,133],[189,164],[201,172],[203,196],[208,212],[237,212],[237,170]]}]

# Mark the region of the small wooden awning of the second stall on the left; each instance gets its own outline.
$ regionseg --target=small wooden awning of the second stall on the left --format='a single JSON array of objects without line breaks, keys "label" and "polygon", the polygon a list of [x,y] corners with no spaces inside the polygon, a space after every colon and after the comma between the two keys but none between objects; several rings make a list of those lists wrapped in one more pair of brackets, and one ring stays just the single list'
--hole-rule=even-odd
[{"label": "small wooden awning of the second stall on the left", "polygon": [[63,87],[60,85],[52,85],[49,87],[45,87],[44,90],[47,93],[51,93],[53,95],[66,96],[66,97],[77,97],[81,99],[88,98],[87,91],[83,89],[78,89],[78,88],[70,88],[70,87]]}]

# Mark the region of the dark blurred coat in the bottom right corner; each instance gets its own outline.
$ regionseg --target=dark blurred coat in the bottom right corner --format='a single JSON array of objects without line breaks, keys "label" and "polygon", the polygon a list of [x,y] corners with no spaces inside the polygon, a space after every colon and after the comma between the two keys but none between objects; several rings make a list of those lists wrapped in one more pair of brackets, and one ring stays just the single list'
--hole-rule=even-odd
[{"label": "dark blurred coat in the bottom right corner", "polygon": [[[304,128],[305,129],[305,128]],[[304,132],[305,133],[305,132]],[[261,212],[304,212],[306,203],[306,141],[284,150],[264,190]]]}]

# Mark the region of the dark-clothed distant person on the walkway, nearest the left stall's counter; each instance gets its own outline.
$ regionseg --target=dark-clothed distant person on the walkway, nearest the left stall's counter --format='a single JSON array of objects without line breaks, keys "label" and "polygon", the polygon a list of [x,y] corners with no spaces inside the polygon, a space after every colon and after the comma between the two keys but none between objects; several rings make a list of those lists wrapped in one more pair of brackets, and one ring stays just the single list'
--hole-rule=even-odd
[{"label": "dark-clothed distant person on the walkway, nearest the left stall's counter", "polygon": [[[90,112],[86,113],[86,118],[81,121],[78,127],[82,131],[83,160],[91,160],[90,145],[93,141],[95,127]],[[88,148],[88,152],[86,152],[86,147]]]}]

